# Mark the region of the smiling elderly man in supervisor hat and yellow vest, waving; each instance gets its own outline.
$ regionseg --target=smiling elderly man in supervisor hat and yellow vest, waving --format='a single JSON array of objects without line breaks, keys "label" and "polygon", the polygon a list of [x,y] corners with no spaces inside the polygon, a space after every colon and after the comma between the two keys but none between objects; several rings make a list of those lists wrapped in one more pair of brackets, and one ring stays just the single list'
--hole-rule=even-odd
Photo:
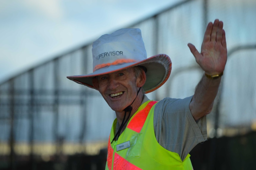
[{"label": "smiling elderly man in supervisor hat and yellow vest, waving", "polygon": [[201,53],[188,46],[205,75],[184,99],[145,95],[167,81],[171,60],[165,54],[147,58],[139,29],[102,35],[93,43],[93,73],[67,77],[98,90],[116,112],[106,169],[193,169],[189,152],[207,138],[206,115],[227,61],[223,22],[208,24]]}]

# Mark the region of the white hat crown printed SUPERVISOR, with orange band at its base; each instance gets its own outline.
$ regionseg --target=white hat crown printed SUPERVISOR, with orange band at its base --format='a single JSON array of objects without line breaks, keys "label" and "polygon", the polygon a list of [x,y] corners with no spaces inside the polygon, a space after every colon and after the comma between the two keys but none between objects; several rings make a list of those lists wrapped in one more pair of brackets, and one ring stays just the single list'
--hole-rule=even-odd
[{"label": "white hat crown printed SUPERVISOR, with orange band at its base", "polygon": [[123,28],[102,35],[92,45],[93,72],[111,65],[136,63],[147,58],[141,31]]}]

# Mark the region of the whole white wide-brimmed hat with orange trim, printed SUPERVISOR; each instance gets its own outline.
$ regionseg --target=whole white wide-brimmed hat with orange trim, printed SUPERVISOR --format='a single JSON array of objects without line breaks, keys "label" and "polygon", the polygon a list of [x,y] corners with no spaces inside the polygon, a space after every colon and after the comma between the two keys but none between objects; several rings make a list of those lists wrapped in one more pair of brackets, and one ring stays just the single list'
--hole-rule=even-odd
[{"label": "whole white wide-brimmed hat with orange trim, printed SUPERVISOR", "polygon": [[95,89],[92,80],[96,76],[143,66],[147,70],[143,89],[145,93],[150,93],[167,81],[172,69],[172,62],[166,54],[147,58],[141,31],[138,28],[123,28],[112,34],[102,35],[93,43],[92,57],[92,73],[67,76],[67,78]]}]

